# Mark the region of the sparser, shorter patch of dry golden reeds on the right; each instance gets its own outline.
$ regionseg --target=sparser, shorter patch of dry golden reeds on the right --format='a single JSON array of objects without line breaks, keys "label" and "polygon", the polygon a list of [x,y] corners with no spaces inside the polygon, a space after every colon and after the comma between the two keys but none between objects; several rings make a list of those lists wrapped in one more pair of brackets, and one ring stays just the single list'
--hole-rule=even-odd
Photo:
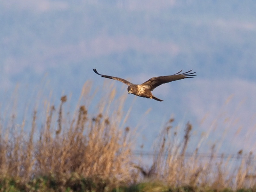
[{"label": "sparser, shorter patch of dry golden reeds on the right", "polygon": [[[240,163],[235,165],[231,161],[231,158],[234,158],[232,155],[218,156],[215,144],[207,151],[209,154],[207,159],[202,158],[204,156],[198,153],[198,148],[193,153],[186,153],[191,139],[192,125],[189,122],[186,124],[183,140],[178,142],[177,129],[172,127],[173,121],[174,119],[171,118],[160,134],[150,169],[151,174],[155,174],[155,178],[175,187],[189,185],[216,190],[256,188],[256,164],[252,152],[244,155]],[[190,155],[186,156],[186,154]],[[242,155],[243,151],[239,150],[236,158],[240,159]]]}]

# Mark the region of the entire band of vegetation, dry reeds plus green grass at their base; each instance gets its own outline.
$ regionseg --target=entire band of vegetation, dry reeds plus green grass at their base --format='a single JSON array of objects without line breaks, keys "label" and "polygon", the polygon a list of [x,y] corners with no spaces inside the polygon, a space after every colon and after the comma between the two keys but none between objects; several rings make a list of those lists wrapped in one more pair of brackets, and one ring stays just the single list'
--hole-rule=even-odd
[{"label": "entire band of vegetation, dry reeds plus green grass at their base", "polygon": [[[88,90],[85,84],[80,101],[93,97]],[[256,191],[252,153],[232,170],[226,158],[216,158],[214,145],[207,161],[198,148],[186,157],[192,125],[177,143],[174,119],[159,135],[152,166],[134,163],[136,133],[124,127],[126,97],[114,98],[115,89],[109,90],[95,114],[85,105],[66,112],[66,96],[58,107],[46,102],[44,115],[34,110],[31,123],[11,114],[0,124],[0,191]]]}]

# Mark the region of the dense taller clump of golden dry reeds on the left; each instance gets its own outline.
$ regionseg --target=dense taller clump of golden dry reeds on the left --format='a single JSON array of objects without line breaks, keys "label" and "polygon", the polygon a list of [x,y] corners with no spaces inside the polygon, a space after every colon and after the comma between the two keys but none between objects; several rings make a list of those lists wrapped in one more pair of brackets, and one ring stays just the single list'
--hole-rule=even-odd
[{"label": "dense taller clump of golden dry reeds on the left", "polygon": [[[85,84],[80,100],[90,100],[89,89]],[[36,122],[42,117],[38,117],[37,110],[30,124],[24,119],[21,125],[0,125],[0,177],[26,182],[42,175],[61,179],[76,172],[113,186],[134,180],[130,129],[120,128],[125,121],[125,97],[117,98],[118,105],[110,112],[115,89],[110,90],[94,115],[88,114],[85,105],[78,106],[74,114],[63,111],[68,98],[62,96],[59,107],[46,104],[46,120],[40,127]],[[15,122],[15,116],[12,118],[10,122]],[[24,127],[30,129],[26,131]]]}]

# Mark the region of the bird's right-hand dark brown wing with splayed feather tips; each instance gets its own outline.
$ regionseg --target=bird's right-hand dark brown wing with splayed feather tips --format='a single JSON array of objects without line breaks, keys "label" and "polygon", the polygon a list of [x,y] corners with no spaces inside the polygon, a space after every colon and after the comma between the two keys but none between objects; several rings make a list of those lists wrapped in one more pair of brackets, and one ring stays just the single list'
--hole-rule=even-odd
[{"label": "bird's right-hand dark brown wing with splayed feather tips", "polygon": [[180,79],[194,78],[192,76],[196,76],[196,75],[192,75],[192,74],[194,74],[196,72],[189,73],[192,70],[187,71],[186,73],[180,73],[181,71],[179,71],[178,73],[175,73],[174,75],[152,77],[151,79],[148,79],[148,81],[144,82],[141,85],[148,85],[148,86],[150,86],[150,91],[152,91],[153,89],[155,89],[156,87],[158,87],[161,84],[169,83],[171,81],[176,81],[176,80],[180,80]]}]

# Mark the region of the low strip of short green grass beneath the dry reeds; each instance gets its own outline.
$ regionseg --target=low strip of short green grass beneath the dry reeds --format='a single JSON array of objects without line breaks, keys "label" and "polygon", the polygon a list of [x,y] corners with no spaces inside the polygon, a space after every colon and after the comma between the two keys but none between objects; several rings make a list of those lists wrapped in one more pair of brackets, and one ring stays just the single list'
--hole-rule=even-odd
[{"label": "low strip of short green grass beneath the dry reeds", "polygon": [[[66,180],[65,180],[66,179]],[[38,192],[51,192],[51,191],[77,191],[77,192],[254,192],[255,188],[244,188],[232,190],[230,188],[214,189],[210,187],[193,187],[189,185],[180,187],[168,187],[161,182],[141,182],[138,184],[116,187],[110,190],[104,182],[96,185],[92,179],[84,179],[72,174],[70,177],[63,177],[61,181],[57,181],[55,177],[39,177],[27,183],[22,183],[19,180],[4,179],[1,180],[1,191],[38,191]]]}]

